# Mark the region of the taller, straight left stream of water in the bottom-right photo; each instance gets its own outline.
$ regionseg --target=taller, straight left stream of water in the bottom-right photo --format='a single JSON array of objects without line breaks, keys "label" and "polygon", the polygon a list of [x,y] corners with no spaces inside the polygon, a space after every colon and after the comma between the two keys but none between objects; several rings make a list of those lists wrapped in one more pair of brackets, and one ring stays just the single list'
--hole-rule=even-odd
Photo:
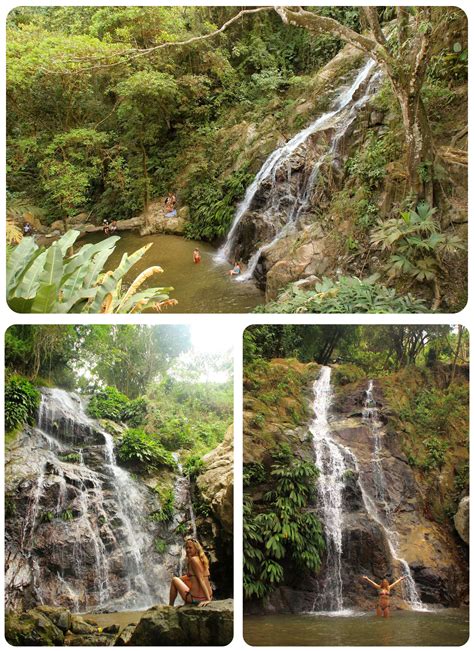
[{"label": "taller, straight left stream of water in the bottom-right photo", "polygon": [[323,366],[313,385],[315,417],[310,424],[318,477],[318,503],[326,538],[326,579],[321,591],[320,610],[340,611],[342,597],[342,528],[344,471],[347,469],[340,446],[331,437],[328,423],[332,401],[331,369]]}]

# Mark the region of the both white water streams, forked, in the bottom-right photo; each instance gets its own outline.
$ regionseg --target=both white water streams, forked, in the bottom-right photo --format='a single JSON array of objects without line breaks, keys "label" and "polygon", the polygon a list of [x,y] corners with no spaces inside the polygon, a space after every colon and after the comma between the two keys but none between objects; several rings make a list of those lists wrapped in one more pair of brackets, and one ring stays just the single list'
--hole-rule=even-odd
[{"label": "both white water streams, forked, in the bottom-right photo", "polygon": [[[421,602],[415,581],[413,580],[407,561],[400,556],[398,549],[398,534],[386,523],[387,513],[391,507],[386,490],[385,475],[381,465],[382,443],[380,432],[379,440],[374,442],[372,454],[373,481],[369,482],[355,453],[348,447],[336,442],[329,422],[329,411],[332,402],[331,369],[322,367],[317,380],[313,385],[313,409],[315,418],[311,421],[309,429],[312,434],[315,464],[319,470],[317,480],[318,505],[320,517],[324,526],[326,538],[326,562],[324,569],[324,583],[315,600],[313,610],[343,612],[343,581],[342,566],[344,560],[343,534],[345,527],[344,490],[345,474],[351,473],[356,478],[364,510],[369,519],[375,522],[387,543],[391,555],[391,564],[394,571],[405,576],[402,582],[404,599],[413,610],[426,610]],[[363,410],[363,420],[374,435],[375,426],[380,429],[381,422],[376,402],[373,397],[373,382],[369,383]],[[375,466],[379,465],[380,474],[376,477]],[[373,493],[374,497],[372,497]],[[383,495],[383,499],[381,499]]]}]

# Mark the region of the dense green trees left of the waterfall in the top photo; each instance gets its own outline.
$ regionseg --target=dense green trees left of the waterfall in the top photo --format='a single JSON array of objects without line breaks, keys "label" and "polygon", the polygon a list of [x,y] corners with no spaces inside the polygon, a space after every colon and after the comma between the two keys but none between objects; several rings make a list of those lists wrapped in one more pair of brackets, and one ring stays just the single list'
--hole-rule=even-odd
[{"label": "dense green trees left of the waterfall in the top photo", "polygon": [[[358,27],[355,8],[323,11]],[[13,200],[52,221],[78,210],[121,219],[179,186],[193,205],[189,234],[228,229],[252,178],[217,154],[223,125],[255,118],[340,48],[288,28],[275,14],[243,16],[212,41],[156,49],[211,33],[233,7],[21,7],[8,18],[8,175]],[[118,56],[118,59],[117,59]],[[291,112],[294,100],[282,101]],[[229,115],[231,113],[231,115]],[[186,171],[186,186],[180,175]],[[212,220],[209,218],[212,214]]]}]

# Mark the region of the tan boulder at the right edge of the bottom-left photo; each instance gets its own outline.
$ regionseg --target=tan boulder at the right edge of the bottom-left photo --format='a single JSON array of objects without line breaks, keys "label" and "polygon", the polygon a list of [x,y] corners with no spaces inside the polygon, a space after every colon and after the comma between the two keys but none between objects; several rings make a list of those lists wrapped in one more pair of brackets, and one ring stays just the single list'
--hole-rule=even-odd
[{"label": "tan boulder at the right edge of the bottom-left photo", "polygon": [[203,457],[205,469],[197,479],[203,500],[229,534],[233,529],[233,445],[234,432],[229,427],[222,443]]}]

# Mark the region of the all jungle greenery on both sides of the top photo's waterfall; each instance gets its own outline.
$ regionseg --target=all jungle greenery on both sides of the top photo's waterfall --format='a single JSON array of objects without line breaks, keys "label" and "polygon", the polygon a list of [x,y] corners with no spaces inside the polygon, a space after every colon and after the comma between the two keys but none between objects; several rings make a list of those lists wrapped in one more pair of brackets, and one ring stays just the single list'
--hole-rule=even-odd
[{"label": "all jungle greenery on both sides of the top photo's waterfall", "polygon": [[[326,190],[312,208],[312,226],[327,235],[328,277],[318,274],[310,287],[283,283],[260,311],[461,309],[466,17],[456,8],[398,9],[380,7],[371,20],[350,6],[242,15],[236,7],[14,9],[7,22],[10,243],[21,238],[25,215],[53,223],[82,214],[100,224],[146,215],[169,190],[189,208],[188,237],[222,241],[265,158],[328,109],[331,89],[317,86],[318,72],[347,43],[379,39],[380,47],[360,49],[375,52],[386,79],[341,178],[322,179]],[[60,274],[38,296],[13,278],[9,298],[18,311],[39,312],[70,311],[77,295],[90,311],[174,303],[169,288],[132,298],[112,280],[113,291],[96,297],[86,279],[66,299]]]}]

